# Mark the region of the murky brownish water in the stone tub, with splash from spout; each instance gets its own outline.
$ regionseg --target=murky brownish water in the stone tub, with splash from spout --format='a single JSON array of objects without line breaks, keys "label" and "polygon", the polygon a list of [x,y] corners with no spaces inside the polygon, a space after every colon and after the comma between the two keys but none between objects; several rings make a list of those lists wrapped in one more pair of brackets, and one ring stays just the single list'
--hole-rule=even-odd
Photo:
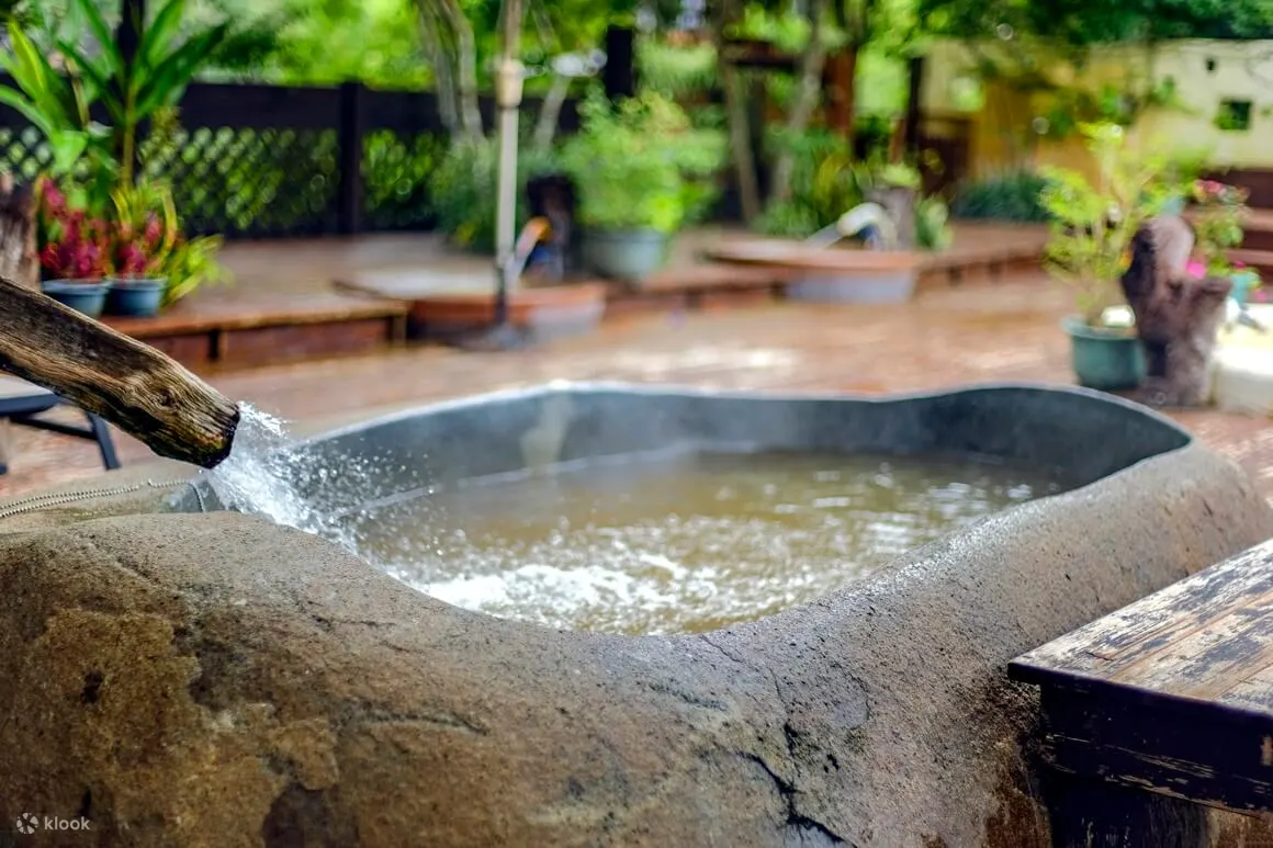
[{"label": "murky brownish water in the stone tub, with splash from spout", "polygon": [[[244,409],[234,453],[209,477],[220,500],[456,606],[608,633],[761,618],[1064,488],[967,458],[677,452],[420,485],[337,511],[300,497],[292,480],[306,458],[286,444],[280,421]],[[303,472],[339,491],[368,462]]]}]

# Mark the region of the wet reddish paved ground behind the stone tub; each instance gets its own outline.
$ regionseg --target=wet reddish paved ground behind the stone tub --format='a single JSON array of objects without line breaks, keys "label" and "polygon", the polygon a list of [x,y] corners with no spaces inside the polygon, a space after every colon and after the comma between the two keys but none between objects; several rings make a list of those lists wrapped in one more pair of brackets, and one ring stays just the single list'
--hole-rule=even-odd
[{"label": "wet reddish paved ground behind the stone tub", "polygon": [[[640,314],[584,339],[512,353],[435,346],[204,376],[228,396],[300,421],[368,415],[551,379],[784,392],[901,392],[988,381],[1069,383],[1058,327],[1068,295],[1039,274],[920,293],[903,306],[760,304]],[[74,410],[61,410],[71,420]],[[1273,428],[1213,410],[1172,416],[1273,499]],[[101,477],[93,444],[14,428],[0,495]],[[149,451],[120,434],[125,463]]]}]

